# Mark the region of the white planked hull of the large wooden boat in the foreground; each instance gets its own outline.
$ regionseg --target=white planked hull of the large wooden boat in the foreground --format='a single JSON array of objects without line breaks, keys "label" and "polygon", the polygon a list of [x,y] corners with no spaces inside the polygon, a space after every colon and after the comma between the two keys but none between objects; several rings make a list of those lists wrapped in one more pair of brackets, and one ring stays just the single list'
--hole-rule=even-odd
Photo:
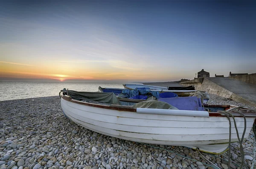
[{"label": "white planked hull of the large wooden boat in the foreground", "polygon": [[[212,153],[224,152],[228,147],[229,122],[224,114],[218,112],[102,105],[76,100],[68,96],[67,92],[61,92],[60,97],[61,107],[68,118],[104,135],[134,142],[199,148]],[[215,107],[217,106],[205,106],[207,109]],[[227,110],[232,106],[218,107]],[[241,138],[244,119],[238,113],[232,114]],[[245,112],[244,115],[247,119],[246,138],[256,115],[250,112]],[[231,141],[237,142],[236,130],[232,119],[231,121]]]}]

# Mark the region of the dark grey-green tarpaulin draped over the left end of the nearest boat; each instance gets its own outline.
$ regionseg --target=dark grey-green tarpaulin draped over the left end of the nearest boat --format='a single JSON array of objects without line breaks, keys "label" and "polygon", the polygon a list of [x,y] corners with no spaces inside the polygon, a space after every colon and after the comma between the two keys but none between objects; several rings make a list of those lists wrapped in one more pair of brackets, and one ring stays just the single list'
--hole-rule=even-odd
[{"label": "dark grey-green tarpaulin draped over the left end of the nearest boat", "polygon": [[77,92],[74,90],[68,90],[68,95],[76,100],[89,100],[89,101],[96,101],[99,103],[121,105],[114,93]]}]

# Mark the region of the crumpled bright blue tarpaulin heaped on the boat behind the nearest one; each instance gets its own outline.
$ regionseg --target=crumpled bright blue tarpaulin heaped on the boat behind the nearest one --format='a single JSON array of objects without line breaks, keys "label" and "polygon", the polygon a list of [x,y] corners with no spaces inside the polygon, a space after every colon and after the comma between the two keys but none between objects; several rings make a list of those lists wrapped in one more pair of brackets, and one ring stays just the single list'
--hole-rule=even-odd
[{"label": "crumpled bright blue tarpaulin heaped on the boat behind the nearest one", "polygon": [[146,95],[148,93],[151,93],[154,97],[159,98],[159,92],[151,91],[148,87],[143,88],[136,88],[133,90],[125,89],[122,91],[122,94],[126,95],[127,98],[134,97],[137,95]]}]

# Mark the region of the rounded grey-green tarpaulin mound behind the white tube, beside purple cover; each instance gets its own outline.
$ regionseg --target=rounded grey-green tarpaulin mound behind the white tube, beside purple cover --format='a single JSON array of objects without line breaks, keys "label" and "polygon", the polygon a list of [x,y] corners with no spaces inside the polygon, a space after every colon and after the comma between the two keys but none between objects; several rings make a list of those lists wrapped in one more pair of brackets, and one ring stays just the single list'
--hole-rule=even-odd
[{"label": "rounded grey-green tarpaulin mound behind the white tube, beside purple cover", "polygon": [[175,106],[172,106],[163,101],[148,100],[134,104],[133,108],[148,108],[148,109],[174,109],[178,110]]}]

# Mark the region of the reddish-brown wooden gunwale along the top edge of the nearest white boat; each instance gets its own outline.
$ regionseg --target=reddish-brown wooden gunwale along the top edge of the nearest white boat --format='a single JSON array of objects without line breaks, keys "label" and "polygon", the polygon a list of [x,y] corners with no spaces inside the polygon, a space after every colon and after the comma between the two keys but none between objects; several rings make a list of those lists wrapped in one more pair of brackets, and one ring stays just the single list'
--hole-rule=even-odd
[{"label": "reddish-brown wooden gunwale along the top edge of the nearest white boat", "polygon": [[[102,109],[111,109],[111,110],[118,110],[118,111],[126,111],[126,112],[137,112],[137,109],[134,109],[132,107],[125,107],[125,106],[119,106],[119,105],[100,105],[100,104],[95,104],[95,103],[86,103],[86,102],[81,102],[79,100],[74,100],[72,97],[63,95],[63,92],[60,92],[60,97],[64,100],[67,100],[69,102],[85,105],[85,106],[91,106],[91,107],[98,107]],[[207,105],[208,107],[224,107],[226,109],[230,108],[230,105]],[[238,113],[232,113],[234,117],[241,117],[240,114]],[[244,113],[246,117],[256,117],[256,114],[253,113]],[[221,113],[218,112],[209,112],[210,117],[226,117],[225,115],[222,115]]]}]

